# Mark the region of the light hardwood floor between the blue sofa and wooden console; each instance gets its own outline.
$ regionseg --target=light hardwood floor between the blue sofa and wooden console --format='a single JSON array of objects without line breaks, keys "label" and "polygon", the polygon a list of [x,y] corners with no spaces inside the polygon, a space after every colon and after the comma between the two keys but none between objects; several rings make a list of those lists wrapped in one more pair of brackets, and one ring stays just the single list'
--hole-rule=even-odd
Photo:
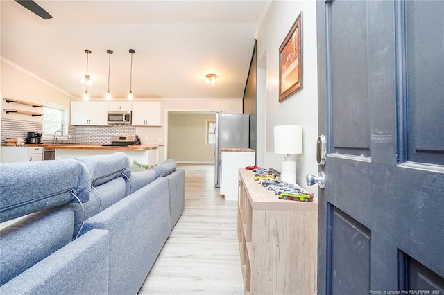
[{"label": "light hardwood floor between the blue sofa and wooden console", "polygon": [[185,211],[139,294],[244,294],[237,202],[214,188],[214,166],[182,165]]}]

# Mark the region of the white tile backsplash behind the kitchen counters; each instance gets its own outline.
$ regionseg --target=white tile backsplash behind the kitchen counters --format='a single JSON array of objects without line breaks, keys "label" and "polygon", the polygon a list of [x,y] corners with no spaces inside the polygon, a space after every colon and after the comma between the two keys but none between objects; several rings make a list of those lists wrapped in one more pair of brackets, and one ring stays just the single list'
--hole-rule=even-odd
[{"label": "white tile backsplash behind the kitchen counters", "polygon": [[[5,138],[26,138],[29,131],[42,132],[42,123],[26,120],[1,119],[1,144]],[[113,126],[73,126],[69,125],[68,134],[71,138],[67,143],[110,144],[112,136],[132,136],[136,127],[128,125]],[[42,138],[42,143],[52,143],[53,138]]]}]

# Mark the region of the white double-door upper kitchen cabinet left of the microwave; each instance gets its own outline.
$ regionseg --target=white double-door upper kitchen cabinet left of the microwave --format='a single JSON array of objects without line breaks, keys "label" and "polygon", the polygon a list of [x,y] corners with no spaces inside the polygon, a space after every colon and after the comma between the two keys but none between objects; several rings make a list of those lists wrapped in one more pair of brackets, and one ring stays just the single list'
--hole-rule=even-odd
[{"label": "white double-door upper kitchen cabinet left of the microwave", "polygon": [[108,126],[108,102],[71,102],[71,125]]}]

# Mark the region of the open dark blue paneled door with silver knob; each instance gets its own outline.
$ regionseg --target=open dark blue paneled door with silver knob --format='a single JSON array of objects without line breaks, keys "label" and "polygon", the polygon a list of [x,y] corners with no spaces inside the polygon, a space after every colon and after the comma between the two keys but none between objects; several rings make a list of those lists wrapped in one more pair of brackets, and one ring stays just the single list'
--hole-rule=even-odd
[{"label": "open dark blue paneled door with silver knob", "polygon": [[444,1],[318,1],[318,294],[444,284],[443,19]]}]

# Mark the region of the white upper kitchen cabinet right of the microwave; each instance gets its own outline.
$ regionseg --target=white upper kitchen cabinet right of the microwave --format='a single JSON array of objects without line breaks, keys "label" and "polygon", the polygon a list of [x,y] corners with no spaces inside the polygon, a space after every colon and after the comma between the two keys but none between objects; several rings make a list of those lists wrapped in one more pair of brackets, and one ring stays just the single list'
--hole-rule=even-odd
[{"label": "white upper kitchen cabinet right of the microwave", "polygon": [[161,102],[133,102],[133,126],[162,126]]}]

